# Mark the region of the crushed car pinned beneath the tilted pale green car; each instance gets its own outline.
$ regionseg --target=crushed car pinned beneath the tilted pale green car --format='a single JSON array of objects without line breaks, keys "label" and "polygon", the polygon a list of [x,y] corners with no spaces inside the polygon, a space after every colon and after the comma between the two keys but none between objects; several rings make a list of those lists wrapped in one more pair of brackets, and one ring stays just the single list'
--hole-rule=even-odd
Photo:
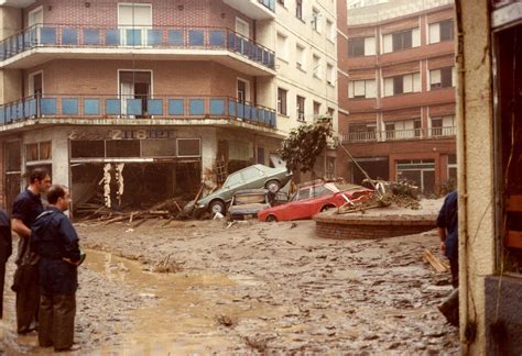
[{"label": "crushed car pinned beneath the tilted pale green car", "polygon": [[228,214],[231,220],[257,218],[261,210],[271,207],[271,196],[268,189],[238,190],[230,201]]}]

